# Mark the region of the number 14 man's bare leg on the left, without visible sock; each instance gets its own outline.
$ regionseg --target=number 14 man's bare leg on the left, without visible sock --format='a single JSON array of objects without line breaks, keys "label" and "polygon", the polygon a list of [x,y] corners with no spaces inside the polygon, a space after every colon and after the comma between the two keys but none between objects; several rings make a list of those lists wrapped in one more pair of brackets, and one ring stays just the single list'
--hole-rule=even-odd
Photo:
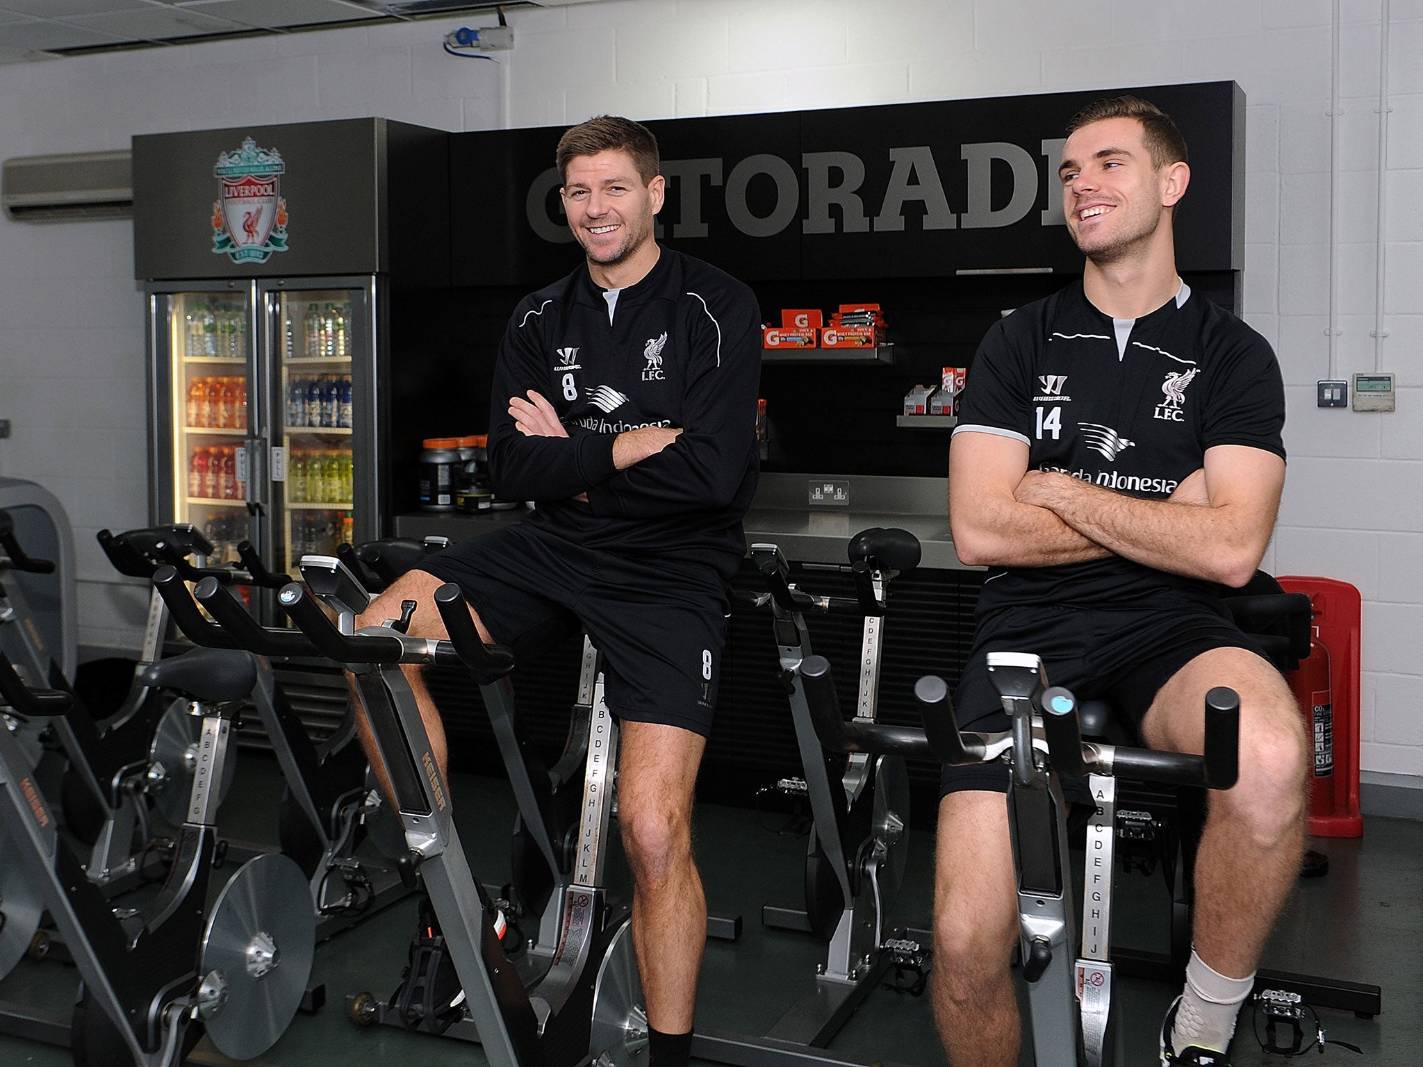
[{"label": "number 14 man's bare leg on the left, without visible sock", "polygon": [[951,1067],[1015,1067],[1022,1043],[1010,957],[1019,936],[1007,797],[939,801],[933,1023]]}]

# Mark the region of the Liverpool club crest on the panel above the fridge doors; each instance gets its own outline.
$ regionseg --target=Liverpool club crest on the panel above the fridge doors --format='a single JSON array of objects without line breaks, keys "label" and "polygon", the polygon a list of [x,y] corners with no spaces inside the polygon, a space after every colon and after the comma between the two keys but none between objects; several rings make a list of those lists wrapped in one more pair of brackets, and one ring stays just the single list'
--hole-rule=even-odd
[{"label": "Liverpool club crest on the panel above the fridge doors", "polygon": [[286,252],[286,201],[279,181],[282,154],[258,148],[250,137],[235,152],[222,152],[212,168],[218,201],[212,205],[212,250],[233,263],[265,263]]}]

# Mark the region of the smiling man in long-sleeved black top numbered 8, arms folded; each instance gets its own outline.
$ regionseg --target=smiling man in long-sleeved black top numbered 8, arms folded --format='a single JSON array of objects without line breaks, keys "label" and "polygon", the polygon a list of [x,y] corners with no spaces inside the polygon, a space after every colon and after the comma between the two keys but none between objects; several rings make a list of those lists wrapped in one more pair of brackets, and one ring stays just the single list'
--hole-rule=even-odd
[{"label": "smiling man in long-sleeved black top numbered 8, arms folded", "polygon": [[[692,794],[758,469],[760,309],[736,279],[653,239],[663,178],[646,128],[589,120],[556,159],[588,262],[515,309],[490,418],[495,492],[538,508],[423,561],[361,622],[416,599],[410,632],[443,636],[431,595],[457,582],[485,642],[521,662],[578,627],[602,650],[650,1056],[680,1067],[706,940]],[[443,765],[438,711],[411,674]]]}]

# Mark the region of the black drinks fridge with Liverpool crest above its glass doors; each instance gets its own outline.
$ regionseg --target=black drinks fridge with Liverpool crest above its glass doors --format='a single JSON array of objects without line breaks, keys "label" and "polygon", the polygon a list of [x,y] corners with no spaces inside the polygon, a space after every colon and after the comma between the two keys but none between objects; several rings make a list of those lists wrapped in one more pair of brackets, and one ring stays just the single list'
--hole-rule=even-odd
[{"label": "black drinks fridge with Liverpool crest above its glass doors", "polygon": [[[448,135],[363,118],[132,145],[151,521],[191,522],[222,562],[250,541],[293,576],[302,555],[383,536],[411,452],[394,353],[428,347],[394,334],[391,306],[448,293]],[[275,596],[252,606],[276,622]]]}]

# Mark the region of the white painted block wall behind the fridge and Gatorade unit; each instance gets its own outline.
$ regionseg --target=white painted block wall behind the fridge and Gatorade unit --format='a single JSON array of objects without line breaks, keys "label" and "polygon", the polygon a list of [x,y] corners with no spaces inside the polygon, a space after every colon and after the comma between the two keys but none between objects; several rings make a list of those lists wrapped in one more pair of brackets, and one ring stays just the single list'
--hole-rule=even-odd
[{"label": "white painted block wall behind the fridge and Gatorade unit", "polygon": [[[1332,0],[606,0],[509,23],[515,48],[497,61],[447,55],[451,20],[0,67],[0,155],[360,115],[485,129],[1235,80],[1248,101],[1244,313],[1276,346],[1289,391],[1289,481],[1265,563],[1359,586],[1363,767],[1423,775],[1423,0],[1340,0],[1338,37]],[[114,647],[135,647],[142,623],[141,590],[110,578],[92,541],[145,519],[131,255],[128,223],[0,221],[0,417],[14,423],[0,474],[64,501],[80,639]],[[1316,378],[1375,368],[1397,376],[1396,413],[1315,408]]]}]

